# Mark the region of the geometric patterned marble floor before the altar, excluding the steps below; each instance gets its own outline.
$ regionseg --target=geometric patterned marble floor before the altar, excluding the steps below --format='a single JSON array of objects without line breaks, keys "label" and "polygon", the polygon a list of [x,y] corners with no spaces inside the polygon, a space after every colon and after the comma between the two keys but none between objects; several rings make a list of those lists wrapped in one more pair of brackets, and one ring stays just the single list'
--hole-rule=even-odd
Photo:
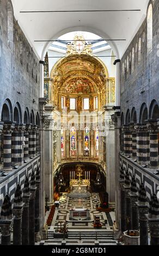
[{"label": "geometric patterned marble floor before the altar, excluding the steps below", "polygon": [[[97,204],[100,204],[99,195],[97,193],[91,193],[91,196],[87,198],[71,198],[69,197],[68,193],[63,193],[59,199],[59,208],[56,208],[50,230],[55,230],[59,221],[65,221],[66,215],[72,208],[89,209],[90,213],[93,214],[94,219],[96,215],[100,216],[102,228],[112,230],[113,221],[115,220],[115,213],[110,212],[106,214],[105,212],[97,211]],[[105,224],[105,220],[107,220],[107,224]],[[92,222],[69,222],[68,228],[69,230],[94,230]]]}]

